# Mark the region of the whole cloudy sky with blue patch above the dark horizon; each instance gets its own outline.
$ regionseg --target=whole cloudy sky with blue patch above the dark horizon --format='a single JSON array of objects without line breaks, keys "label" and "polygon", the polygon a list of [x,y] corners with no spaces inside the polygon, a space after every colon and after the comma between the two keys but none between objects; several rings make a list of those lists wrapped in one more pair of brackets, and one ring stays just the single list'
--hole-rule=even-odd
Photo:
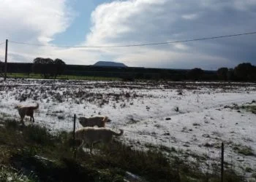
[{"label": "whole cloudy sky with blue patch above the dark horizon", "polygon": [[1,43],[8,39],[8,62],[16,63],[42,57],[67,64],[101,60],[146,68],[256,65],[256,33],[109,47],[255,32],[255,17],[255,0],[0,0],[0,60],[5,51]]}]

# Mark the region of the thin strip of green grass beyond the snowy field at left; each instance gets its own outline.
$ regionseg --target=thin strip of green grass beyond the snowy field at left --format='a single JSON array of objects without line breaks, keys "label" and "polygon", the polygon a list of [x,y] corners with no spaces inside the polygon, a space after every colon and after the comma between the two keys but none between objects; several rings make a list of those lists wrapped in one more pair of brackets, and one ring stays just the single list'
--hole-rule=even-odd
[{"label": "thin strip of green grass beyond the snowy field at left", "polygon": [[[19,74],[7,73],[8,78],[13,79],[44,79],[40,74]],[[102,77],[102,76],[75,76],[75,75],[60,75],[56,79],[76,79],[76,80],[92,80],[92,81],[117,81],[121,80],[116,77]]]}]

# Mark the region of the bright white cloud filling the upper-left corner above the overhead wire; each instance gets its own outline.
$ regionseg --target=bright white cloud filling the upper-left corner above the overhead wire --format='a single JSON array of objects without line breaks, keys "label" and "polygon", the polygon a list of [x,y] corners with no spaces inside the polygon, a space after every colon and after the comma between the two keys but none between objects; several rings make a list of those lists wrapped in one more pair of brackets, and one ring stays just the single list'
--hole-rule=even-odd
[{"label": "bright white cloud filling the upper-left corner above the overhead wire", "polygon": [[69,26],[70,16],[63,0],[2,0],[0,4],[1,39],[48,43],[52,36]]}]

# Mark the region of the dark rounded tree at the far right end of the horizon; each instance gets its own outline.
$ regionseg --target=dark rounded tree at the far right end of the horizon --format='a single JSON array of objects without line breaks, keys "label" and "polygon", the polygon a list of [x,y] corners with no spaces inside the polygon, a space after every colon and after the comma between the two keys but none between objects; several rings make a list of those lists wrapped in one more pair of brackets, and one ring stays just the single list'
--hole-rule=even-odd
[{"label": "dark rounded tree at the far right end of the horizon", "polygon": [[251,63],[241,63],[234,69],[234,74],[239,80],[249,81],[255,79],[255,66]]}]

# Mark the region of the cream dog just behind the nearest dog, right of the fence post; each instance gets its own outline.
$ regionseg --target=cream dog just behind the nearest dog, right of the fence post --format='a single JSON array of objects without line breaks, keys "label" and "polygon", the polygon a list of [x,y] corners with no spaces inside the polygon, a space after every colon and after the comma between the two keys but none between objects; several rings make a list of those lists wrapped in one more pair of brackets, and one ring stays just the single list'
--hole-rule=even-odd
[{"label": "cream dog just behind the nearest dog, right of the fence post", "polygon": [[108,116],[79,117],[78,120],[83,127],[105,127],[105,122],[110,122]]}]

